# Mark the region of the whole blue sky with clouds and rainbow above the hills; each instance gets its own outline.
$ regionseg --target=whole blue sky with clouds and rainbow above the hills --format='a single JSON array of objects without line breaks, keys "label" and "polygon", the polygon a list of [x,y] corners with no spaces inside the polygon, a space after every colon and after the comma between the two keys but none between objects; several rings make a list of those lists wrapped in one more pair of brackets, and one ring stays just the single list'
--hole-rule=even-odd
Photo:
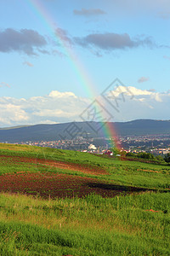
[{"label": "whole blue sky with clouds and rainbow above the hills", "polygon": [[170,119],[169,85],[168,0],[0,1],[0,127]]}]

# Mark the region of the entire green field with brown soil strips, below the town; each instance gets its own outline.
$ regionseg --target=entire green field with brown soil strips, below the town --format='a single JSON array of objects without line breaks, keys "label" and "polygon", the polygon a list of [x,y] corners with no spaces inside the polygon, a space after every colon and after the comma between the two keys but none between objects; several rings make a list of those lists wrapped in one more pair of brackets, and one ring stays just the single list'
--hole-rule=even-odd
[{"label": "entire green field with brown soil strips, below the town", "polygon": [[170,255],[170,166],[0,144],[0,174],[0,255]]}]

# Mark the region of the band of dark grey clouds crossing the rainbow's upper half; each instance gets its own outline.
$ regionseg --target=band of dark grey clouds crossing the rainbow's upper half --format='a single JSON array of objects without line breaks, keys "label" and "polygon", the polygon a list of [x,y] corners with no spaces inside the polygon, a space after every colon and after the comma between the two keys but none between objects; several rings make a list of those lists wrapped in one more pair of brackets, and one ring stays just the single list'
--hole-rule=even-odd
[{"label": "band of dark grey clouds crossing the rainbow's upper half", "polygon": [[[97,10],[99,11],[99,9]],[[10,53],[15,51],[26,55],[55,54],[63,57],[65,55],[59,51],[59,46],[63,47],[63,45],[65,47],[81,46],[84,49],[90,49],[90,52],[96,56],[101,56],[99,50],[110,53],[116,49],[134,49],[140,46],[170,48],[168,45],[157,45],[150,37],[131,38],[126,32],[122,34],[114,32],[90,33],[85,37],[73,37],[65,29],[57,27],[55,35],[58,38],[58,43],[55,46],[54,44],[51,45],[52,51],[49,52],[46,48],[50,42],[47,42],[38,32],[31,29],[17,31],[7,28],[4,31],[0,31],[0,52]],[[25,62],[25,64],[31,67],[29,62]]]}]

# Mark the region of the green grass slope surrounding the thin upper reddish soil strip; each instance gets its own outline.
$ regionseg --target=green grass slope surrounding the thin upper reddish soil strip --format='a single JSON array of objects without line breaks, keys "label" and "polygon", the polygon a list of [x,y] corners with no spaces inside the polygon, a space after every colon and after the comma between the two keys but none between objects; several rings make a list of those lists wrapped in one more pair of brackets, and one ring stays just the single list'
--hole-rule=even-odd
[{"label": "green grass slope surrounding the thin upper reddish soil strip", "polygon": [[[117,185],[134,186],[146,189],[170,189],[170,166],[141,163],[138,161],[105,159],[93,154],[55,148],[40,148],[26,145],[0,143],[0,154],[28,158],[59,160],[77,163],[83,166],[95,166],[105,169],[110,175],[97,177]],[[14,172],[60,172],[82,177],[94,177],[91,174],[71,172],[60,168],[51,168],[41,164],[18,163],[11,166],[11,160],[0,163],[0,174]],[[149,172],[151,171],[151,172]]]}]

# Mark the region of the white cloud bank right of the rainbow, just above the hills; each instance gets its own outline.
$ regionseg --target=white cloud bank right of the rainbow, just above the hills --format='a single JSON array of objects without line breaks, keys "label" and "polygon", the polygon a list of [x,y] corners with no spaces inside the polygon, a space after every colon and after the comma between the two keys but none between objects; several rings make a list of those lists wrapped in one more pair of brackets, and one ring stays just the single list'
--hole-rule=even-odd
[{"label": "white cloud bank right of the rainbow, just above the hills", "polygon": [[[170,93],[118,86],[106,94],[105,108],[115,121],[131,119],[169,119]],[[133,96],[133,97],[132,97]],[[102,98],[100,101],[104,104]]]}]

